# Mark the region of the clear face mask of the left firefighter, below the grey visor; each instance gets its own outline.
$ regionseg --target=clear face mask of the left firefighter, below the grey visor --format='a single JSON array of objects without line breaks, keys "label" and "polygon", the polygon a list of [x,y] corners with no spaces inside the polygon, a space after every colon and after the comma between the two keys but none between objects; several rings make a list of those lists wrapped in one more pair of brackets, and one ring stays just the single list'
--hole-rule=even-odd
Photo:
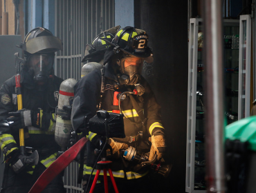
[{"label": "clear face mask of the left firefighter, below the grey visor", "polygon": [[37,85],[46,84],[53,68],[54,53],[31,54],[28,57],[28,73]]}]

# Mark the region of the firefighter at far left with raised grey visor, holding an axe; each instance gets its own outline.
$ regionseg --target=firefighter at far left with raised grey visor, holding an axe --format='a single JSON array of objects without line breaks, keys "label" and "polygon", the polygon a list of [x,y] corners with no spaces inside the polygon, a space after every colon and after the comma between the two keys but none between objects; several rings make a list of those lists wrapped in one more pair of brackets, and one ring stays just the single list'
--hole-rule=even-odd
[{"label": "firefighter at far left with raised grey visor, holding an axe", "polygon": [[[23,109],[17,107],[15,76],[0,89],[0,146],[6,163],[1,193],[28,192],[60,150],[54,139],[54,92],[63,80],[54,75],[53,62],[55,52],[62,50],[62,42],[46,28],[35,28],[19,48],[24,51],[20,72]],[[19,150],[20,128],[24,128],[25,146],[30,147],[24,153]],[[64,192],[62,176],[43,192]]]}]

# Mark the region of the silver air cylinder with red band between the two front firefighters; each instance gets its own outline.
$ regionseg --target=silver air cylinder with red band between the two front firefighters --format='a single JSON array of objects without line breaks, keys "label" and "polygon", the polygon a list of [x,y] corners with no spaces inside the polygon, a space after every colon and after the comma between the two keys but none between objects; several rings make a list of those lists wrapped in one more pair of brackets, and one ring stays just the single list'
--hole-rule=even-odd
[{"label": "silver air cylinder with red band between the two front firefighters", "polygon": [[57,107],[57,118],[55,127],[55,141],[62,147],[66,148],[68,146],[69,134],[72,129],[70,113],[68,116],[68,111],[64,110],[63,106],[72,106],[74,98],[74,85],[77,83],[75,79],[66,79],[60,85],[59,101]]}]

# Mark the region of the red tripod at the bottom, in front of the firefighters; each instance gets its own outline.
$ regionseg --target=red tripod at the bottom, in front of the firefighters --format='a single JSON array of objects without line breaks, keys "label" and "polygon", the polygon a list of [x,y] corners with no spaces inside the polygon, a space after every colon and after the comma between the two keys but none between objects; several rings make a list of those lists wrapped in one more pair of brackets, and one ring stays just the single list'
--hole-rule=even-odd
[{"label": "red tripod at the bottom, in front of the firefighters", "polygon": [[109,171],[109,176],[110,176],[110,179],[112,181],[113,188],[115,189],[115,192],[119,193],[118,192],[118,187],[116,186],[116,181],[113,178],[113,173],[112,173],[112,170],[111,170],[111,163],[112,163],[112,161],[107,161],[106,158],[102,158],[102,161],[98,161],[97,162],[97,165],[96,165],[97,172],[95,174],[95,178],[93,180],[93,184],[91,185],[90,193],[92,193],[94,188],[95,188],[95,185],[96,185],[97,180],[98,180],[98,176],[100,174],[100,170],[103,170],[103,173],[104,173],[104,189],[105,189],[105,193],[109,193],[109,187],[108,187],[108,184],[107,184],[107,171]]}]

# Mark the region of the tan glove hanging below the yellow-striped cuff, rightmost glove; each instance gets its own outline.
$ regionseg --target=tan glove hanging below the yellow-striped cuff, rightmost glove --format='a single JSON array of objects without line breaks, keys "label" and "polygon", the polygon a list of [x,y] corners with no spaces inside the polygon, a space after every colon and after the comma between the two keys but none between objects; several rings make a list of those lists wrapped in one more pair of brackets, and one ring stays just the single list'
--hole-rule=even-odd
[{"label": "tan glove hanging below the yellow-striped cuff, rightmost glove", "polygon": [[155,154],[157,155],[157,160],[160,160],[165,153],[165,136],[158,134],[156,136],[151,136],[151,148],[149,153],[149,161],[152,161]]}]

